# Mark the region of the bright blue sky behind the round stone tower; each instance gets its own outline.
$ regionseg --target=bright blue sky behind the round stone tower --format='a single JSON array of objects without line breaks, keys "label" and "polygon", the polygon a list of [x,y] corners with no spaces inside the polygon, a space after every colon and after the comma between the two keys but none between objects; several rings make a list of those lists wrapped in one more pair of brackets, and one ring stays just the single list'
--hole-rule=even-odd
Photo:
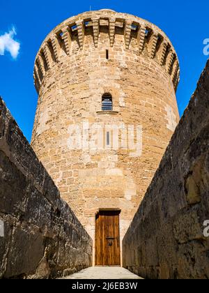
[{"label": "bright blue sky behind the round stone tower", "polygon": [[[137,15],[167,33],[180,60],[181,80],[177,91],[180,115],[196,88],[208,59],[203,54],[203,40],[209,39],[208,0],[1,0],[0,96],[29,141],[38,98],[33,87],[36,52],[57,24],[89,10],[90,6],[92,10],[111,8]],[[1,41],[9,37],[15,43],[2,47]]]}]

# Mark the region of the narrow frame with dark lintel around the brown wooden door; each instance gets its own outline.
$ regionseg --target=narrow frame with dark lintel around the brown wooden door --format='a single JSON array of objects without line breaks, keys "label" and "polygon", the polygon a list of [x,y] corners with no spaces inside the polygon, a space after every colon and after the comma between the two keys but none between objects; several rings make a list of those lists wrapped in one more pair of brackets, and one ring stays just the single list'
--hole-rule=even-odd
[{"label": "narrow frame with dark lintel around the brown wooden door", "polygon": [[[120,221],[120,214],[121,214],[121,209],[117,209],[117,208],[102,208],[102,209],[98,209],[98,211],[95,213],[95,237],[94,237],[94,241],[95,241],[95,248],[94,248],[94,265],[95,266],[102,266],[102,265],[98,265],[96,264],[96,253],[97,253],[97,248],[96,248],[96,236],[97,236],[97,230],[96,230],[96,217],[100,214],[100,212],[102,211],[113,211],[113,212],[117,212],[118,213],[118,245],[119,245],[119,263],[118,266],[121,266],[121,221]],[[114,265],[113,265],[114,266]]]}]

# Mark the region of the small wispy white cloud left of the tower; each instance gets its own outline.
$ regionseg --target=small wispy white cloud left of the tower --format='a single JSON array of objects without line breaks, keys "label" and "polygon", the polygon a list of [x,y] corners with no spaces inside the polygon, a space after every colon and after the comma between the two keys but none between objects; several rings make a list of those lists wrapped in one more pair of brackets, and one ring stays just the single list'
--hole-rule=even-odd
[{"label": "small wispy white cloud left of the tower", "polygon": [[13,59],[17,58],[20,52],[20,43],[14,40],[16,34],[15,28],[13,27],[8,33],[0,36],[0,55],[4,55],[8,51]]}]

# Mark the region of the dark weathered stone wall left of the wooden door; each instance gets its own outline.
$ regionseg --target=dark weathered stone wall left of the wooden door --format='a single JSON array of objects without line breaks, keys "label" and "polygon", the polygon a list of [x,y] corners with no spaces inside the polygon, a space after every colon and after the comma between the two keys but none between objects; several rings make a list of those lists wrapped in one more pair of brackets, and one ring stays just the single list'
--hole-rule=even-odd
[{"label": "dark weathered stone wall left of the wooden door", "polygon": [[1,98],[0,225],[0,278],[54,278],[91,266],[90,236]]}]

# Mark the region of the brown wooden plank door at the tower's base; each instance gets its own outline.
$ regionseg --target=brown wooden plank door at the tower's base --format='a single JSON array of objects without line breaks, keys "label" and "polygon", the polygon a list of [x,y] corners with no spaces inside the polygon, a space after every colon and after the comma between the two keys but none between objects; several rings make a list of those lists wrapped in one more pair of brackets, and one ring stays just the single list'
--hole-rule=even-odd
[{"label": "brown wooden plank door at the tower's base", "polygon": [[100,211],[95,222],[95,265],[119,266],[119,211]]}]

